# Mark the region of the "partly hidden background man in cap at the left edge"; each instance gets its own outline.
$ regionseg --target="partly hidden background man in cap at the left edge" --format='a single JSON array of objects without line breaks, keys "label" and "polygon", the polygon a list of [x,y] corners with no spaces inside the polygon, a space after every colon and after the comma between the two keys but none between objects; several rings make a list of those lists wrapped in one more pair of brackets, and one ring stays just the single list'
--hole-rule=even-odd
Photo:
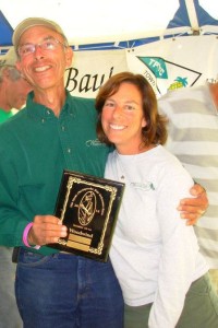
[{"label": "partly hidden background man in cap at the left edge", "polygon": [[[11,48],[0,62],[0,124],[10,118],[14,109],[21,109],[31,85],[15,68],[16,56]],[[19,328],[22,320],[14,296],[15,263],[10,247],[0,247],[0,327]],[[10,309],[10,315],[9,315]]]}]

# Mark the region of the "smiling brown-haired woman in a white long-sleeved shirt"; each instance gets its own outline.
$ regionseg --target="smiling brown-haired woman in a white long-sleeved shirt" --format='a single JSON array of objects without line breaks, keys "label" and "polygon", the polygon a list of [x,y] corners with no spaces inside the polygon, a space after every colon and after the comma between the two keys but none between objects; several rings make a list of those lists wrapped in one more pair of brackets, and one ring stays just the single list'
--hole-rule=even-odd
[{"label": "smiling brown-haired woman in a white long-sleeved shirt", "polygon": [[193,180],[167,152],[166,119],[143,75],[113,75],[96,98],[97,132],[114,144],[105,176],[125,183],[110,258],[125,328],[218,327],[218,298],[193,227],[177,204]]}]

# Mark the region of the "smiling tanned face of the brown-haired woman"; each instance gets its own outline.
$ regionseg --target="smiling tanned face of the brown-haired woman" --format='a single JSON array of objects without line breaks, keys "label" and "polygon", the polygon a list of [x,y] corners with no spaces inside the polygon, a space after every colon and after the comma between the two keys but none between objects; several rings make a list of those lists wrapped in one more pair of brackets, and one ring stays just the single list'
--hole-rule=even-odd
[{"label": "smiling tanned face of the brown-haired woman", "polygon": [[102,129],[121,154],[138,153],[142,128],[146,126],[138,89],[123,82],[118,92],[106,99],[101,114]]}]

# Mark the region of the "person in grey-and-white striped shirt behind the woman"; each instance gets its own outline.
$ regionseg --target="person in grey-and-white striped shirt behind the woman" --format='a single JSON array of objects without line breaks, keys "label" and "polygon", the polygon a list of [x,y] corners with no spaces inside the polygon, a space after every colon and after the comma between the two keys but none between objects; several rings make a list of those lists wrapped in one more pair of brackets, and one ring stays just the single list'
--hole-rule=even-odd
[{"label": "person in grey-and-white striped shirt behind the woman", "polygon": [[218,292],[218,82],[168,92],[159,108],[169,118],[167,148],[207,190],[195,233]]}]

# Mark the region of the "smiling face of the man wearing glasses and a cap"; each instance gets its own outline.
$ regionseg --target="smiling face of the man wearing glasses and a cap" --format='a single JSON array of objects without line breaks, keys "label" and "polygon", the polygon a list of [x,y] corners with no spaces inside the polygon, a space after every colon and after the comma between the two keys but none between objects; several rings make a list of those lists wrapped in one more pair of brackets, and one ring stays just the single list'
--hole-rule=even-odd
[{"label": "smiling face of the man wearing glasses and a cap", "polygon": [[[40,44],[53,38],[59,40],[55,49],[43,49]],[[20,39],[20,46],[36,45],[35,51],[21,56],[17,69],[27,81],[37,90],[50,90],[63,86],[64,71],[71,66],[73,52],[70,47],[64,47],[63,37],[57,32],[45,26],[34,26],[25,31]]]}]

